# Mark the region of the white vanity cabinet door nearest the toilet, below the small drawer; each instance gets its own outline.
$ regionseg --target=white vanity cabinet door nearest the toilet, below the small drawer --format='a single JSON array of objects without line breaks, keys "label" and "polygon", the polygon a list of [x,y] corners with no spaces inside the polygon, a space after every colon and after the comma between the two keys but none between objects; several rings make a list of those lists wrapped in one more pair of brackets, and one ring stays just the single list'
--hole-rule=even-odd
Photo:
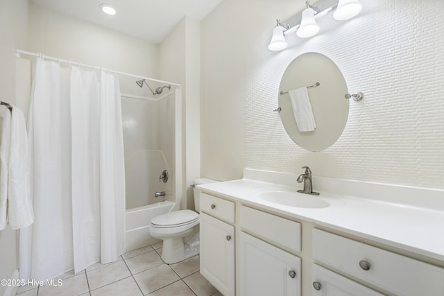
[{"label": "white vanity cabinet door nearest the toilet, below the small drawer", "polygon": [[200,273],[223,295],[234,295],[234,226],[205,213],[200,213]]}]

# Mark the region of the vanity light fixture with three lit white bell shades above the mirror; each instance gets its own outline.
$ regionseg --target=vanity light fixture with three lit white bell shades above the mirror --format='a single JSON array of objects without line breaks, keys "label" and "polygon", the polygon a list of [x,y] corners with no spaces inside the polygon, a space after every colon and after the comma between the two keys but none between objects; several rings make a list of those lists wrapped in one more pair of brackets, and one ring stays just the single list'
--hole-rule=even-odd
[{"label": "vanity light fixture with three lit white bell shades above the mirror", "polygon": [[271,51],[281,51],[287,47],[285,35],[291,34],[295,31],[298,37],[306,38],[316,35],[319,31],[319,26],[316,24],[316,19],[327,15],[328,12],[334,12],[334,19],[345,20],[355,17],[362,9],[359,0],[319,0],[313,6],[310,1],[305,1],[305,10],[298,12],[293,17],[281,22],[279,19],[275,28],[273,29],[273,37],[271,38],[268,49]]}]

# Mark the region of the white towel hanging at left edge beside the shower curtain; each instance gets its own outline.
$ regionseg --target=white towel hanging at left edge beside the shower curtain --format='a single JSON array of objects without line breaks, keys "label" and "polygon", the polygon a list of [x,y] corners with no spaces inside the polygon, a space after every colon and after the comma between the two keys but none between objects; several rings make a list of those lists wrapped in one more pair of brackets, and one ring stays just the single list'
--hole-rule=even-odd
[{"label": "white towel hanging at left edge beside the shower curtain", "polygon": [[12,106],[3,116],[0,143],[0,230],[9,222],[11,229],[34,221],[26,170],[27,136],[22,110]]}]

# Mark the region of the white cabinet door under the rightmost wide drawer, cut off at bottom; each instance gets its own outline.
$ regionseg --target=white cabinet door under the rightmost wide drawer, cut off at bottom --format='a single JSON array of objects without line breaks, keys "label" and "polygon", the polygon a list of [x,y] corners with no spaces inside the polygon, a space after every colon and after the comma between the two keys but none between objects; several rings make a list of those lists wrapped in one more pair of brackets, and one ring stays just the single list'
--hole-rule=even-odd
[{"label": "white cabinet door under the rightmost wide drawer, cut off at bottom", "polygon": [[383,296],[319,265],[313,265],[313,296]]}]

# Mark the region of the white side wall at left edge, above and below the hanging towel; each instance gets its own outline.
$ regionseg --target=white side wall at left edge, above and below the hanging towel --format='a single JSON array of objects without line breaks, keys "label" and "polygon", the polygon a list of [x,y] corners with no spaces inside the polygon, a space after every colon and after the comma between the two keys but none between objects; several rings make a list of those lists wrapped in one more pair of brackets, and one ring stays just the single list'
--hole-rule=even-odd
[{"label": "white side wall at left edge, above and below the hanging towel", "polygon": [[[16,103],[15,49],[26,46],[27,38],[28,1],[0,0],[0,101]],[[9,227],[0,231],[0,262],[0,279],[12,279],[17,270],[17,231]],[[0,286],[0,295],[7,288]]]}]

